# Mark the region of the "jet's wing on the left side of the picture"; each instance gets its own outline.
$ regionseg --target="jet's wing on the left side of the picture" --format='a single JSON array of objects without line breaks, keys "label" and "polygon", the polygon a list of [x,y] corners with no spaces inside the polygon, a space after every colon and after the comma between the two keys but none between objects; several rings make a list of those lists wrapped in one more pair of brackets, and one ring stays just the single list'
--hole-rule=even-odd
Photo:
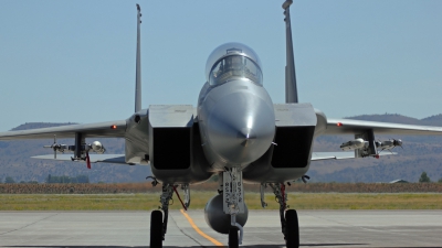
[{"label": "jet's wing on the left side of the picture", "polygon": [[85,138],[123,138],[126,120],[0,132],[0,140],[75,138],[75,133]]}]

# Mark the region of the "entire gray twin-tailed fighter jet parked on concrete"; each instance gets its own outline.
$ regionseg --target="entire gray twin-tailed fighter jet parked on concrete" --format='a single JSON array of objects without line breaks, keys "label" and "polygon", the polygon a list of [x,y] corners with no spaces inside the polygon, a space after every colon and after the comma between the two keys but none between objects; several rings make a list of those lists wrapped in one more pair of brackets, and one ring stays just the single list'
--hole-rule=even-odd
[{"label": "entire gray twin-tailed fighter jet parked on concrete", "polygon": [[[290,6],[283,4],[286,28],[286,103],[274,104],[263,87],[257,54],[246,45],[227,43],[217,47],[206,64],[207,82],[198,106],[150,105],[141,108],[140,8],[137,4],[137,54],[135,114],[126,120],[1,132],[0,140],[48,139],[54,154],[39,159],[107,162],[151,166],[152,185],[160,184],[161,209],[150,219],[150,246],[161,247],[167,233],[169,201],[177,187],[190,206],[190,185],[212,175],[221,179],[218,194],[206,206],[206,220],[214,230],[229,235],[229,247],[242,242],[248,219],[243,183],[270,187],[280,203],[281,228],[288,248],[299,246],[295,209],[287,209],[285,186],[308,180],[312,161],[379,158],[383,150],[401,147],[401,140],[377,141],[375,134],[442,134],[441,127],[397,125],[327,118],[311,104],[298,103],[293,56]],[[340,145],[344,152],[313,152],[313,140],[323,134],[354,134]],[[99,141],[85,138],[118,137],[126,140],[125,154],[103,154]],[[55,138],[75,138],[72,145]],[[72,151],[73,155],[59,154]],[[94,152],[94,154],[91,154]],[[98,154],[95,154],[98,153]]]}]

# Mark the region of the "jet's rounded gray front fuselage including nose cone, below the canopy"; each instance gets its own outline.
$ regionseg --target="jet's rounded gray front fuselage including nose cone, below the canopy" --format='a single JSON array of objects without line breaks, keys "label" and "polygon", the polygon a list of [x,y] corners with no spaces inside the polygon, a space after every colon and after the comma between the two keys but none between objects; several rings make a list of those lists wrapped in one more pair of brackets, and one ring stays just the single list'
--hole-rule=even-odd
[{"label": "jet's rounded gray front fuselage including nose cone, below the canopy", "polygon": [[201,90],[198,121],[213,169],[245,168],[261,158],[275,134],[273,103],[263,86],[234,79]]}]

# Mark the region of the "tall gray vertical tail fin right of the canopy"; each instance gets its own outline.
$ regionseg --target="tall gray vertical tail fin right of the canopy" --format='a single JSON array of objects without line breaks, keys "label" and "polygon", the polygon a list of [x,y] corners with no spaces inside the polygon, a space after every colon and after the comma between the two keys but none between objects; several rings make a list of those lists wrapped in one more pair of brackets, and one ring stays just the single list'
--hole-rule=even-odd
[{"label": "tall gray vertical tail fin right of the canopy", "polygon": [[286,0],[283,3],[284,22],[285,22],[285,46],[286,46],[286,65],[285,65],[285,103],[298,103],[297,87],[296,87],[296,73],[295,73],[295,58],[293,56],[293,42],[292,42],[292,25],[290,19],[290,6],[293,0]]}]

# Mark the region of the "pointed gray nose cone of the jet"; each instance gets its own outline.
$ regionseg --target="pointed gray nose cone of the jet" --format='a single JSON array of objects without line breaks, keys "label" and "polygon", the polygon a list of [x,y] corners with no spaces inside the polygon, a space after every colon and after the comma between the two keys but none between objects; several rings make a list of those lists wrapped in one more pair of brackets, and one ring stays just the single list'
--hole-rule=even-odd
[{"label": "pointed gray nose cone of the jet", "polygon": [[224,96],[208,118],[208,141],[228,165],[257,160],[272,144],[274,134],[273,105],[252,94]]}]

